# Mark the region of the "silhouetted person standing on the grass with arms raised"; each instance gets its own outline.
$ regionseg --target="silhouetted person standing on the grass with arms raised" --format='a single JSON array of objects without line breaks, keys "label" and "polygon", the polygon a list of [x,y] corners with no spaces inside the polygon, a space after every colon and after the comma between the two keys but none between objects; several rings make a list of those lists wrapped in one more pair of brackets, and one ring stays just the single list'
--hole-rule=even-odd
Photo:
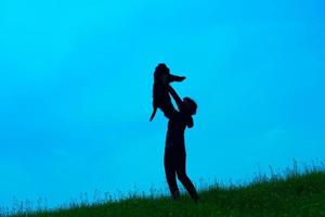
[{"label": "silhouetted person standing on the grass with arms raised", "polygon": [[191,197],[198,202],[196,189],[186,175],[186,151],[185,151],[185,128],[194,126],[192,116],[196,114],[197,105],[190,98],[181,98],[172,87],[169,86],[169,93],[176,101],[179,111],[173,106],[169,114],[168,130],[166,137],[164,165],[170,193],[174,200],[180,196],[177,178],[185,187]]}]

